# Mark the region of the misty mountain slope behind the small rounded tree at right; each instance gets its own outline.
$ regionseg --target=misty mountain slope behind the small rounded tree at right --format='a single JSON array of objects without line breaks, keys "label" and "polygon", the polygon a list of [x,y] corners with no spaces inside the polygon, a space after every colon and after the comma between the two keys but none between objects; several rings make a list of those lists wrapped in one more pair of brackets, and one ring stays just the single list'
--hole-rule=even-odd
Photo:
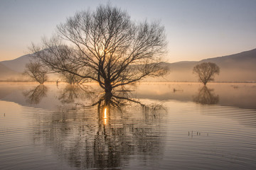
[{"label": "misty mountain slope behind the small rounded tree at right", "polygon": [[193,67],[201,62],[213,62],[220,67],[220,74],[215,81],[245,82],[256,81],[256,49],[235,55],[209,58],[199,62],[174,62],[167,64],[170,69],[163,81],[198,81],[193,74]]}]

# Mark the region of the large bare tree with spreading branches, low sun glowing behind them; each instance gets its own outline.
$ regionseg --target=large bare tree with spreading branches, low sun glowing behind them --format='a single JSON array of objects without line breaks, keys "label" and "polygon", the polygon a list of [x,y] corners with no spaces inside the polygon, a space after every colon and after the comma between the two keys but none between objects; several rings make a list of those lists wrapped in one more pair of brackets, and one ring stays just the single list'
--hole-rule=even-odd
[{"label": "large bare tree with spreading branches, low sun glowing behind them", "polygon": [[133,22],[127,12],[107,5],[76,13],[57,28],[53,38],[32,47],[53,72],[97,81],[105,92],[166,73],[166,35],[159,22]]}]

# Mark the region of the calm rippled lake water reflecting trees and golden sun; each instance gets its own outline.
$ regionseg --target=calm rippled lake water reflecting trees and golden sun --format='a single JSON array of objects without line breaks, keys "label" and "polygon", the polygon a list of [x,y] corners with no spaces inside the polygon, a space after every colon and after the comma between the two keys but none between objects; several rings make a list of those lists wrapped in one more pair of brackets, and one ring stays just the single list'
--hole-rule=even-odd
[{"label": "calm rippled lake water reflecting trees and golden sun", "polygon": [[0,83],[0,169],[256,169],[256,84]]}]

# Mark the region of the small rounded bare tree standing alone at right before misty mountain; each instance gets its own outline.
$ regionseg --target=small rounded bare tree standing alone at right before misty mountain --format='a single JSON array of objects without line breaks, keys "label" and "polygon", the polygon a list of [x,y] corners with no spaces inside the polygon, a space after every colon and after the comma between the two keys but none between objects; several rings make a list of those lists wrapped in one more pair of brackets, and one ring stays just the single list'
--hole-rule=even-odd
[{"label": "small rounded bare tree standing alone at right before misty mountain", "polygon": [[206,85],[208,81],[214,80],[215,74],[220,74],[220,68],[215,63],[203,62],[193,67],[193,74],[197,74],[199,80]]}]

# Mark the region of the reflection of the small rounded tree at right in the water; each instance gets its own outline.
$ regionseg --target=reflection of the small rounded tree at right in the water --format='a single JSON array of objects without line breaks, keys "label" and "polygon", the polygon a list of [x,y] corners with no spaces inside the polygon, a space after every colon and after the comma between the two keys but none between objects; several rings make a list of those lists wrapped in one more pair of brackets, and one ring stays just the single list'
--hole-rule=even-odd
[{"label": "reflection of the small rounded tree at right in the water", "polygon": [[219,96],[213,94],[213,89],[208,89],[207,86],[203,86],[199,89],[198,95],[193,96],[193,101],[202,104],[217,104],[219,101]]}]

